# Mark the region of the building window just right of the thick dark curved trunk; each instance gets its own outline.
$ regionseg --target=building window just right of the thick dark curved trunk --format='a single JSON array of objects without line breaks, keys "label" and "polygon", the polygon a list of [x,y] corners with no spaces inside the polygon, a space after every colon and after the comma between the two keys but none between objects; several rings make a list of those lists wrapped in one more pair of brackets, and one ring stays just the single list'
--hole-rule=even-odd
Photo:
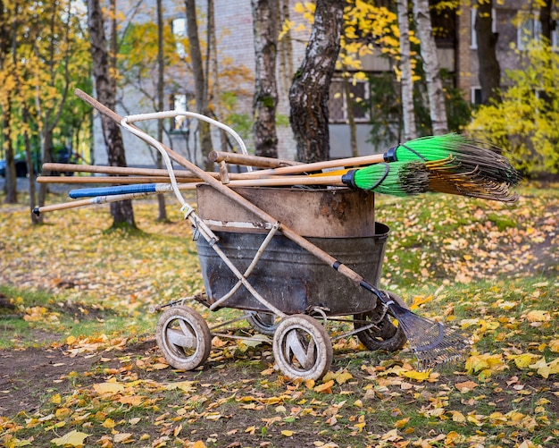
[{"label": "building window just right of the thick dark curved trunk", "polygon": [[352,107],[355,123],[368,123],[369,111],[362,106],[363,100],[369,97],[368,83],[363,80],[349,80],[349,98],[344,89],[344,81],[333,79],[330,83],[328,111],[330,123],[347,123],[347,110]]}]

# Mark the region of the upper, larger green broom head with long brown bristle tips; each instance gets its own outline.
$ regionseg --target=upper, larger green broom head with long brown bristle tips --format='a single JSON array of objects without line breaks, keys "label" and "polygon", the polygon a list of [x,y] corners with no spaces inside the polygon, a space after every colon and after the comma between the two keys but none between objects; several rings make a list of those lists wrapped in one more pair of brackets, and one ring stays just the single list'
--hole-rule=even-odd
[{"label": "upper, larger green broom head with long brown bristle tips", "polygon": [[385,153],[387,162],[432,162],[448,157],[454,158],[454,173],[477,171],[480,179],[505,182],[511,186],[521,181],[521,175],[513,165],[500,154],[500,150],[487,143],[466,139],[462,135],[450,133],[421,137],[391,148]]}]

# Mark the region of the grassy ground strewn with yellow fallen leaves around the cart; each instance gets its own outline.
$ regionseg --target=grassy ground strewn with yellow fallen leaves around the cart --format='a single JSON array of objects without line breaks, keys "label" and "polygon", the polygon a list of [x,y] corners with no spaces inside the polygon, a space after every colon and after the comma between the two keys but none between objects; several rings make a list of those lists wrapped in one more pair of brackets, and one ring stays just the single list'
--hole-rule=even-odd
[{"label": "grassy ground strewn with yellow fallen leaves around the cart", "polygon": [[[137,201],[140,232],[127,233],[108,230],[105,206],[33,226],[0,195],[0,444],[558,446],[559,188],[518,192],[513,205],[378,195],[391,229],[380,286],[469,332],[471,351],[425,373],[407,347],[335,339],[330,373],[306,382],[274,370],[271,343],[245,322],[230,331],[246,338],[213,338],[204,368],[167,364],[150,309],[204,291],[171,196],[169,223]],[[190,305],[211,325],[240,313]]]}]

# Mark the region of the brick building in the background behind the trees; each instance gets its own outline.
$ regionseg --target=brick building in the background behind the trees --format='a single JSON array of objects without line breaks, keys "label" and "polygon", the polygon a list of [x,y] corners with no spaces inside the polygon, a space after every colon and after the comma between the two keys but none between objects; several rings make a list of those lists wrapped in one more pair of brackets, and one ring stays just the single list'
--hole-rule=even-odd
[{"label": "brick building in the background behind the trees", "polygon": [[[295,4],[295,0],[283,0]],[[129,0],[117,0],[122,11],[129,10]],[[146,0],[143,9],[139,11],[134,21],[155,21],[154,0]],[[205,17],[206,3],[197,2],[198,27],[201,39],[205,39]],[[530,11],[530,7],[523,0],[507,0],[504,4],[494,2],[493,25],[494,31],[498,33],[497,59],[501,72],[518,67],[519,55],[513,46],[522,48],[523,38],[528,34],[538,33],[538,10]],[[218,60],[220,64],[227,62],[229,68],[235,67],[248,73],[234,86],[236,91],[244,92],[236,97],[234,106],[237,114],[250,117],[252,114],[252,93],[254,92],[254,38],[253,23],[250,0],[228,0],[214,2],[215,29],[218,47]],[[171,24],[175,33],[185,33],[184,2],[180,0],[163,0],[165,21]],[[291,10],[292,11],[292,10]],[[303,20],[296,13],[291,13],[291,19],[302,23]],[[438,55],[441,68],[445,68],[452,75],[455,87],[461,89],[463,97],[472,103],[479,102],[480,85],[478,80],[478,56],[473,31],[475,21],[475,10],[469,6],[461,6],[457,13],[441,14],[433,16],[433,27],[438,30]],[[442,30],[442,31],[441,31]],[[559,45],[558,30],[553,32],[552,40],[555,48]],[[298,68],[305,53],[305,42],[308,38],[308,30],[296,30],[292,33],[291,60],[285,60],[285,45],[280,42],[278,60],[278,114],[284,118],[280,120],[283,125],[278,126],[279,134],[279,156],[281,158],[295,157],[295,144],[288,126],[288,88],[293,73]],[[178,51],[180,49],[178,48]],[[283,58],[283,59],[281,59]],[[391,70],[388,60],[378,55],[366,56],[362,60],[363,71],[371,73],[387,72]],[[221,66],[218,70],[221,70]],[[186,100],[193,96],[194,87],[192,80],[187,74],[176,75],[175,82],[165,87],[168,103],[166,108],[186,107]],[[146,87],[146,86],[144,86]],[[227,86],[220,86],[227,89]],[[229,86],[230,87],[230,86]],[[154,85],[153,85],[154,88]],[[367,86],[357,85],[355,87],[358,95],[366,95]],[[135,86],[127,86],[121,94],[121,106],[119,114],[139,114],[154,112],[146,102],[142,101],[142,95]],[[220,111],[217,111],[220,114]],[[369,139],[370,125],[366,112],[356,117],[357,143],[360,154],[371,154],[380,152],[383,148],[374,148]],[[190,124],[190,128],[186,124]],[[232,124],[232,123],[225,123]],[[154,135],[154,123],[142,123],[147,126]],[[165,124],[167,128],[177,127],[177,123],[170,121]],[[168,133],[163,142],[179,152],[188,156],[194,162],[200,162],[199,151],[193,137],[196,123],[185,121],[178,129]],[[233,126],[234,127],[234,126]],[[237,131],[237,130],[236,130]],[[100,122],[95,120],[95,161],[97,164],[106,163],[106,151],[100,131]],[[143,142],[124,131],[125,147],[127,148],[127,160],[129,165],[153,165],[154,150],[147,148]],[[250,135],[246,136],[246,146],[251,148]],[[216,130],[214,135],[214,148],[222,149],[220,133]],[[396,142],[386,142],[392,145]],[[330,156],[350,156],[349,128],[346,124],[346,98],[341,89],[341,82],[334,79],[330,89]]]}]

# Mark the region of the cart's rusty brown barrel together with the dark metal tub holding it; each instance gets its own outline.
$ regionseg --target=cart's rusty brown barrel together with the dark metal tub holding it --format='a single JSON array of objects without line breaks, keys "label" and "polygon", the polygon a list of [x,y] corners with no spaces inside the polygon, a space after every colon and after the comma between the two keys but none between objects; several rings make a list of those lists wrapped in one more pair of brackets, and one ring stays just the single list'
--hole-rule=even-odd
[{"label": "cart's rusty brown barrel together with the dark metal tub holding it", "polygon": [[[378,285],[389,229],[375,222],[372,193],[346,188],[235,190],[369,283]],[[227,257],[244,272],[268,232],[267,224],[208,185],[199,186],[196,194],[198,216],[220,238],[218,245]],[[229,293],[238,279],[203,238],[196,240],[196,247],[211,305]],[[329,316],[343,316],[370,311],[377,305],[371,292],[281,234],[272,237],[248,281],[286,314],[320,308]],[[242,286],[222,306],[268,311]]]}]

